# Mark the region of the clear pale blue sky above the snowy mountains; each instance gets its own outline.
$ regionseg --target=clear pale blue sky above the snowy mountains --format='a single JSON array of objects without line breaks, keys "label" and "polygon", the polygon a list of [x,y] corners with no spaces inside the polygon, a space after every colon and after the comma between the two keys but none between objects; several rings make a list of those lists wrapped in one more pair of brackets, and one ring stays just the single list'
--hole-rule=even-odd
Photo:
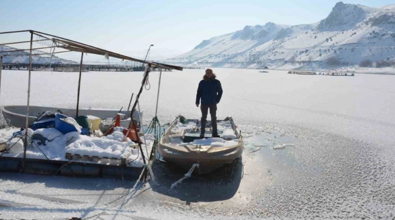
[{"label": "clear pale blue sky above the snowy mountains", "polygon": [[[33,29],[130,56],[172,57],[246,25],[306,24],[339,0],[1,0],[0,31]],[[371,7],[393,0],[348,0]],[[28,40],[25,34],[23,40]],[[10,36],[0,41],[19,39]],[[78,56],[76,56],[78,57]],[[77,58],[78,60],[78,58]]]}]

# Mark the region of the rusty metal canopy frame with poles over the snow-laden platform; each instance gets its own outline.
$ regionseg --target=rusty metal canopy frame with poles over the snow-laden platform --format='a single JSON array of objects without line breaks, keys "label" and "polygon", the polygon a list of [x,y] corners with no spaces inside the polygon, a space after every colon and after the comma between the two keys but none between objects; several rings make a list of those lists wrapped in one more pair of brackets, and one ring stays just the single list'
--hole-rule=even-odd
[{"label": "rusty metal canopy frame with poles over the snow-laden platform", "polygon": [[[136,105],[138,103],[140,94],[143,90],[144,83],[151,72],[151,68],[160,68],[161,69],[161,74],[162,75],[162,69],[167,69],[167,70],[183,70],[183,67],[180,66],[174,66],[174,65],[169,65],[169,64],[164,64],[164,63],[157,63],[157,62],[152,62],[152,61],[146,61],[146,60],[141,60],[141,59],[136,59],[133,57],[125,56],[119,53],[115,53],[109,50],[101,49],[99,47],[91,46],[88,44],[83,44],[77,41],[69,40],[66,38],[58,37],[56,35],[51,35],[39,31],[34,31],[34,30],[22,30],[22,31],[10,31],[10,32],[0,32],[1,34],[13,34],[13,33],[24,33],[24,32],[29,32],[30,33],[30,41],[24,41],[24,42],[12,42],[12,43],[5,43],[5,44],[0,44],[0,45],[7,45],[7,44],[24,44],[24,43],[30,43],[30,49],[17,49],[17,50],[9,50],[9,51],[0,51],[0,53],[6,53],[6,52],[16,52],[16,51],[25,51],[25,50],[30,50],[29,53],[29,81],[28,81],[28,90],[27,90],[27,109],[26,109],[26,131],[28,128],[28,118],[29,118],[29,106],[30,106],[30,82],[31,82],[31,69],[32,69],[32,56],[34,55],[44,55],[44,54],[32,54],[32,51],[35,49],[45,49],[45,48],[62,48],[65,49],[65,51],[59,51],[59,52],[53,52],[53,53],[62,53],[62,52],[70,52],[70,51],[75,51],[75,52],[81,52],[81,62],[80,62],[80,71],[79,71],[79,80],[78,80],[78,94],[77,94],[77,108],[76,108],[76,116],[78,116],[78,106],[79,106],[79,94],[80,94],[80,84],[81,84],[81,72],[82,72],[82,62],[83,62],[83,55],[84,53],[92,53],[92,54],[97,54],[97,55],[104,55],[106,57],[113,57],[113,58],[118,58],[122,60],[130,60],[130,61],[135,61],[135,62],[140,62],[140,63],[145,63],[146,68],[144,71],[144,78],[141,83],[140,90],[137,94],[136,100],[133,104],[133,107],[131,109],[130,116],[133,115],[133,112],[136,110]],[[35,40],[33,41],[33,36],[36,35],[42,39]],[[48,47],[41,47],[41,48],[33,48],[33,42],[40,42],[40,41],[52,41],[53,46],[48,46]],[[2,69],[2,58],[4,56],[13,56],[14,54],[1,54],[0,55],[0,86],[1,86],[1,69]],[[160,77],[161,79],[161,77]],[[160,87],[160,82],[159,82],[159,87]],[[159,88],[158,88],[158,98],[159,98]],[[157,100],[157,107],[158,109],[158,100]],[[157,109],[156,113],[157,114]],[[133,123],[133,120],[132,122]],[[135,130],[136,136],[138,136],[137,130]],[[140,152],[142,154],[143,162],[146,164],[145,161],[145,156],[143,149],[141,147],[141,143],[138,142]],[[22,170],[24,171],[25,169],[25,162],[26,162],[26,148],[27,148],[27,132],[25,132],[25,138],[24,138],[24,153],[23,153],[23,162],[22,162]],[[148,156],[148,155],[147,155]]]}]

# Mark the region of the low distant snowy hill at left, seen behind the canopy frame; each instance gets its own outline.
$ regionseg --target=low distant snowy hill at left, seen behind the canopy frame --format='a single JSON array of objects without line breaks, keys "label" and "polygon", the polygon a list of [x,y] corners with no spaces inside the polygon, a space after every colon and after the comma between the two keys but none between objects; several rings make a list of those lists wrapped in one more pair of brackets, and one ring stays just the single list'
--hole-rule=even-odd
[{"label": "low distant snowy hill at left, seen behind the canopy frame", "polygon": [[[10,51],[10,50],[18,50],[18,48],[11,47],[11,46],[5,46],[5,45],[0,45],[0,55],[7,55],[7,54],[12,54],[12,56],[4,56],[3,57],[3,63],[29,63],[29,50],[25,51],[15,51],[15,52],[1,52],[1,51]],[[46,53],[41,50],[33,50],[33,54],[43,54]],[[57,56],[53,56],[51,59],[50,54],[45,54],[45,55],[36,55],[32,56],[32,63],[37,63],[37,64],[49,64],[49,63],[77,63],[71,60],[66,60],[59,58]]]}]

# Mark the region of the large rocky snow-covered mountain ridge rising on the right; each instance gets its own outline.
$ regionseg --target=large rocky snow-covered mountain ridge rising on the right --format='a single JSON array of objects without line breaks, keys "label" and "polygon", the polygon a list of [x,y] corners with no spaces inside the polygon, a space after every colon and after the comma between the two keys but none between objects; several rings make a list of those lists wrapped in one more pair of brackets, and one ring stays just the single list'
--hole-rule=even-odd
[{"label": "large rocky snow-covered mountain ridge rising on the right", "polygon": [[338,2],[325,19],[295,26],[266,23],[204,40],[166,62],[183,66],[322,68],[395,59],[395,4]]}]

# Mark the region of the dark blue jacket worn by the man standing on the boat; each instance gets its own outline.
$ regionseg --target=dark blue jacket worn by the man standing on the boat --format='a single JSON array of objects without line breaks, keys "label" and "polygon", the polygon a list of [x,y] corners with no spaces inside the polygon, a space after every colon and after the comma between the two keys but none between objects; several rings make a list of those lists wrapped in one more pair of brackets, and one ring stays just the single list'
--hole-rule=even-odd
[{"label": "dark blue jacket worn by the man standing on the boat", "polygon": [[196,104],[199,104],[200,99],[202,99],[202,105],[214,105],[221,101],[221,97],[221,82],[215,79],[214,74],[211,78],[204,76],[203,80],[199,83],[196,93]]}]

